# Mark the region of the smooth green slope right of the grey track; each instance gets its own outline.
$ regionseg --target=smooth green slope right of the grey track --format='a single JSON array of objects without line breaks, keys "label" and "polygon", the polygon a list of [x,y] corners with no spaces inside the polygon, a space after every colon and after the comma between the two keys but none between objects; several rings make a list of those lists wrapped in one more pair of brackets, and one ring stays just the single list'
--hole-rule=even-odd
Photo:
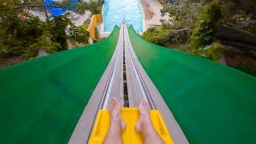
[{"label": "smooth green slope right of the grey track", "polygon": [[146,42],[131,26],[129,36],[190,143],[255,142],[255,77]]}]

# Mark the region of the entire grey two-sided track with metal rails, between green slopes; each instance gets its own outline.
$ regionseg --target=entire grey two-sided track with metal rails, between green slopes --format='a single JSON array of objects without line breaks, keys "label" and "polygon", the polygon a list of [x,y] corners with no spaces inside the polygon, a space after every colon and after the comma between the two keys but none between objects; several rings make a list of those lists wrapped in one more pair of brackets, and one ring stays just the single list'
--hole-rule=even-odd
[{"label": "entire grey two-sided track with metal rails, between green slopes", "polygon": [[122,22],[114,54],[90,97],[69,143],[89,141],[98,110],[106,109],[113,97],[118,98],[122,106],[129,107],[137,107],[142,98],[146,99],[151,109],[161,111],[174,142],[187,143],[170,109],[138,62],[130,44],[126,22]]}]

